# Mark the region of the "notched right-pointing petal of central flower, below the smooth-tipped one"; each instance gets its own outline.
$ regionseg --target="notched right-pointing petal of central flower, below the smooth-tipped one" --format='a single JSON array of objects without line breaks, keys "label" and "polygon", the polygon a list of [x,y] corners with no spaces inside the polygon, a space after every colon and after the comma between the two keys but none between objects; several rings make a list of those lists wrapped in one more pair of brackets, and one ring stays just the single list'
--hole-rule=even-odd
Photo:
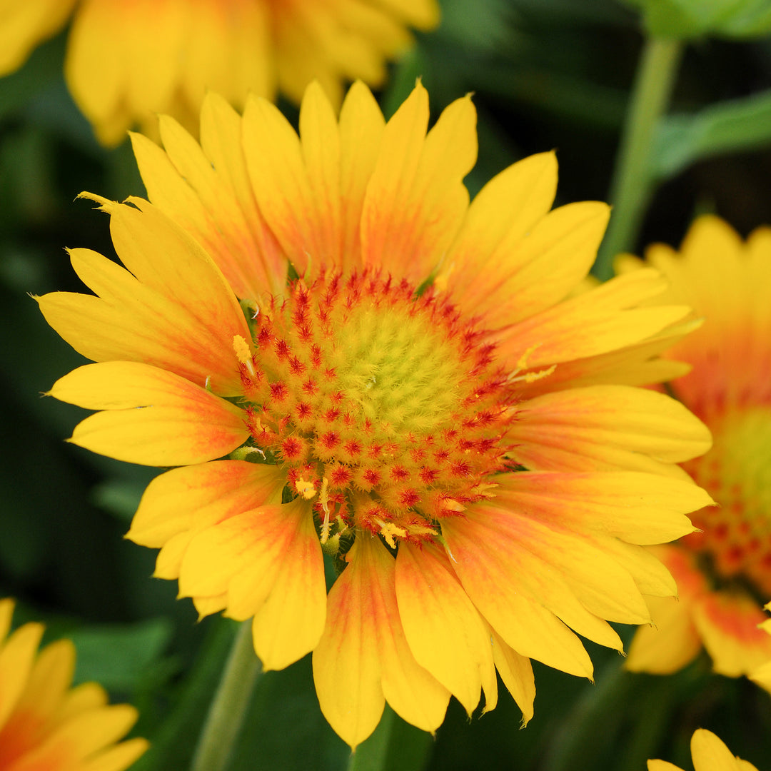
[{"label": "notched right-pointing petal of central flower, below the smooth-tipped one", "polygon": [[661,544],[694,530],[685,512],[712,503],[695,484],[637,472],[520,472],[500,477],[497,500],[578,533]]}]

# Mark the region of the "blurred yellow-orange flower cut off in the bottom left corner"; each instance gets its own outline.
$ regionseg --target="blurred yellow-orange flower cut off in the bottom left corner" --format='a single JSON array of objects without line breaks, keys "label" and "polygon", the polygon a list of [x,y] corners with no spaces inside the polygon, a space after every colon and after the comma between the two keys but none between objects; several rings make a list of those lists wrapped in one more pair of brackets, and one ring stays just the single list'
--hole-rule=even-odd
[{"label": "blurred yellow-orange flower cut off in the bottom left corner", "polygon": [[123,771],[147,749],[116,742],[136,722],[128,704],[108,705],[101,685],[71,688],[75,648],[38,651],[43,627],[11,629],[13,602],[0,600],[0,771]]}]

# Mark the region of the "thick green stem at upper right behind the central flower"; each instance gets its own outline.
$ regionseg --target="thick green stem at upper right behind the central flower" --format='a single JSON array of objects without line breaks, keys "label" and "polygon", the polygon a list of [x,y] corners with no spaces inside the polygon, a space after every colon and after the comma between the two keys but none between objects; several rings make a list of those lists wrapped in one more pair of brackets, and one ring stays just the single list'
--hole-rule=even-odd
[{"label": "thick green stem at upper right behind the central flower", "polygon": [[613,213],[594,264],[594,274],[601,281],[613,275],[615,255],[635,246],[653,188],[653,135],[668,107],[681,57],[679,40],[651,37],[645,42],[611,183]]}]

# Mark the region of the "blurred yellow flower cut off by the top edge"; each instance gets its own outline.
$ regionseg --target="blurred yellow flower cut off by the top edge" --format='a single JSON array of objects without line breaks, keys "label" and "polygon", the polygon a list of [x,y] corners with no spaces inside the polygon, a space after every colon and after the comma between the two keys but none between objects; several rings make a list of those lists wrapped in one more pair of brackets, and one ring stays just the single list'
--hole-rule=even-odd
[{"label": "blurred yellow flower cut off by the top edge", "polygon": [[385,80],[409,48],[408,27],[433,29],[436,0],[0,0],[0,76],[39,42],[72,29],[65,75],[99,141],[116,145],[157,113],[191,131],[207,89],[238,107],[247,93],[299,103],[312,79],[336,105],[343,83]]}]

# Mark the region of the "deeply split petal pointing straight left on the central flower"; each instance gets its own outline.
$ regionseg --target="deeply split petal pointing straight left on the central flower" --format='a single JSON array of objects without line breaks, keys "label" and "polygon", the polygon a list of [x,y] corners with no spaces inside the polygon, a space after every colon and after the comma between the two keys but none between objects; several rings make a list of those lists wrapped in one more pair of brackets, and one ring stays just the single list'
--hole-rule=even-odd
[{"label": "deeply split petal pointing straight left on the central flower", "polygon": [[137,362],[79,367],[57,380],[50,395],[105,410],[79,423],[70,441],[127,463],[202,463],[248,436],[241,409],[179,375]]}]

